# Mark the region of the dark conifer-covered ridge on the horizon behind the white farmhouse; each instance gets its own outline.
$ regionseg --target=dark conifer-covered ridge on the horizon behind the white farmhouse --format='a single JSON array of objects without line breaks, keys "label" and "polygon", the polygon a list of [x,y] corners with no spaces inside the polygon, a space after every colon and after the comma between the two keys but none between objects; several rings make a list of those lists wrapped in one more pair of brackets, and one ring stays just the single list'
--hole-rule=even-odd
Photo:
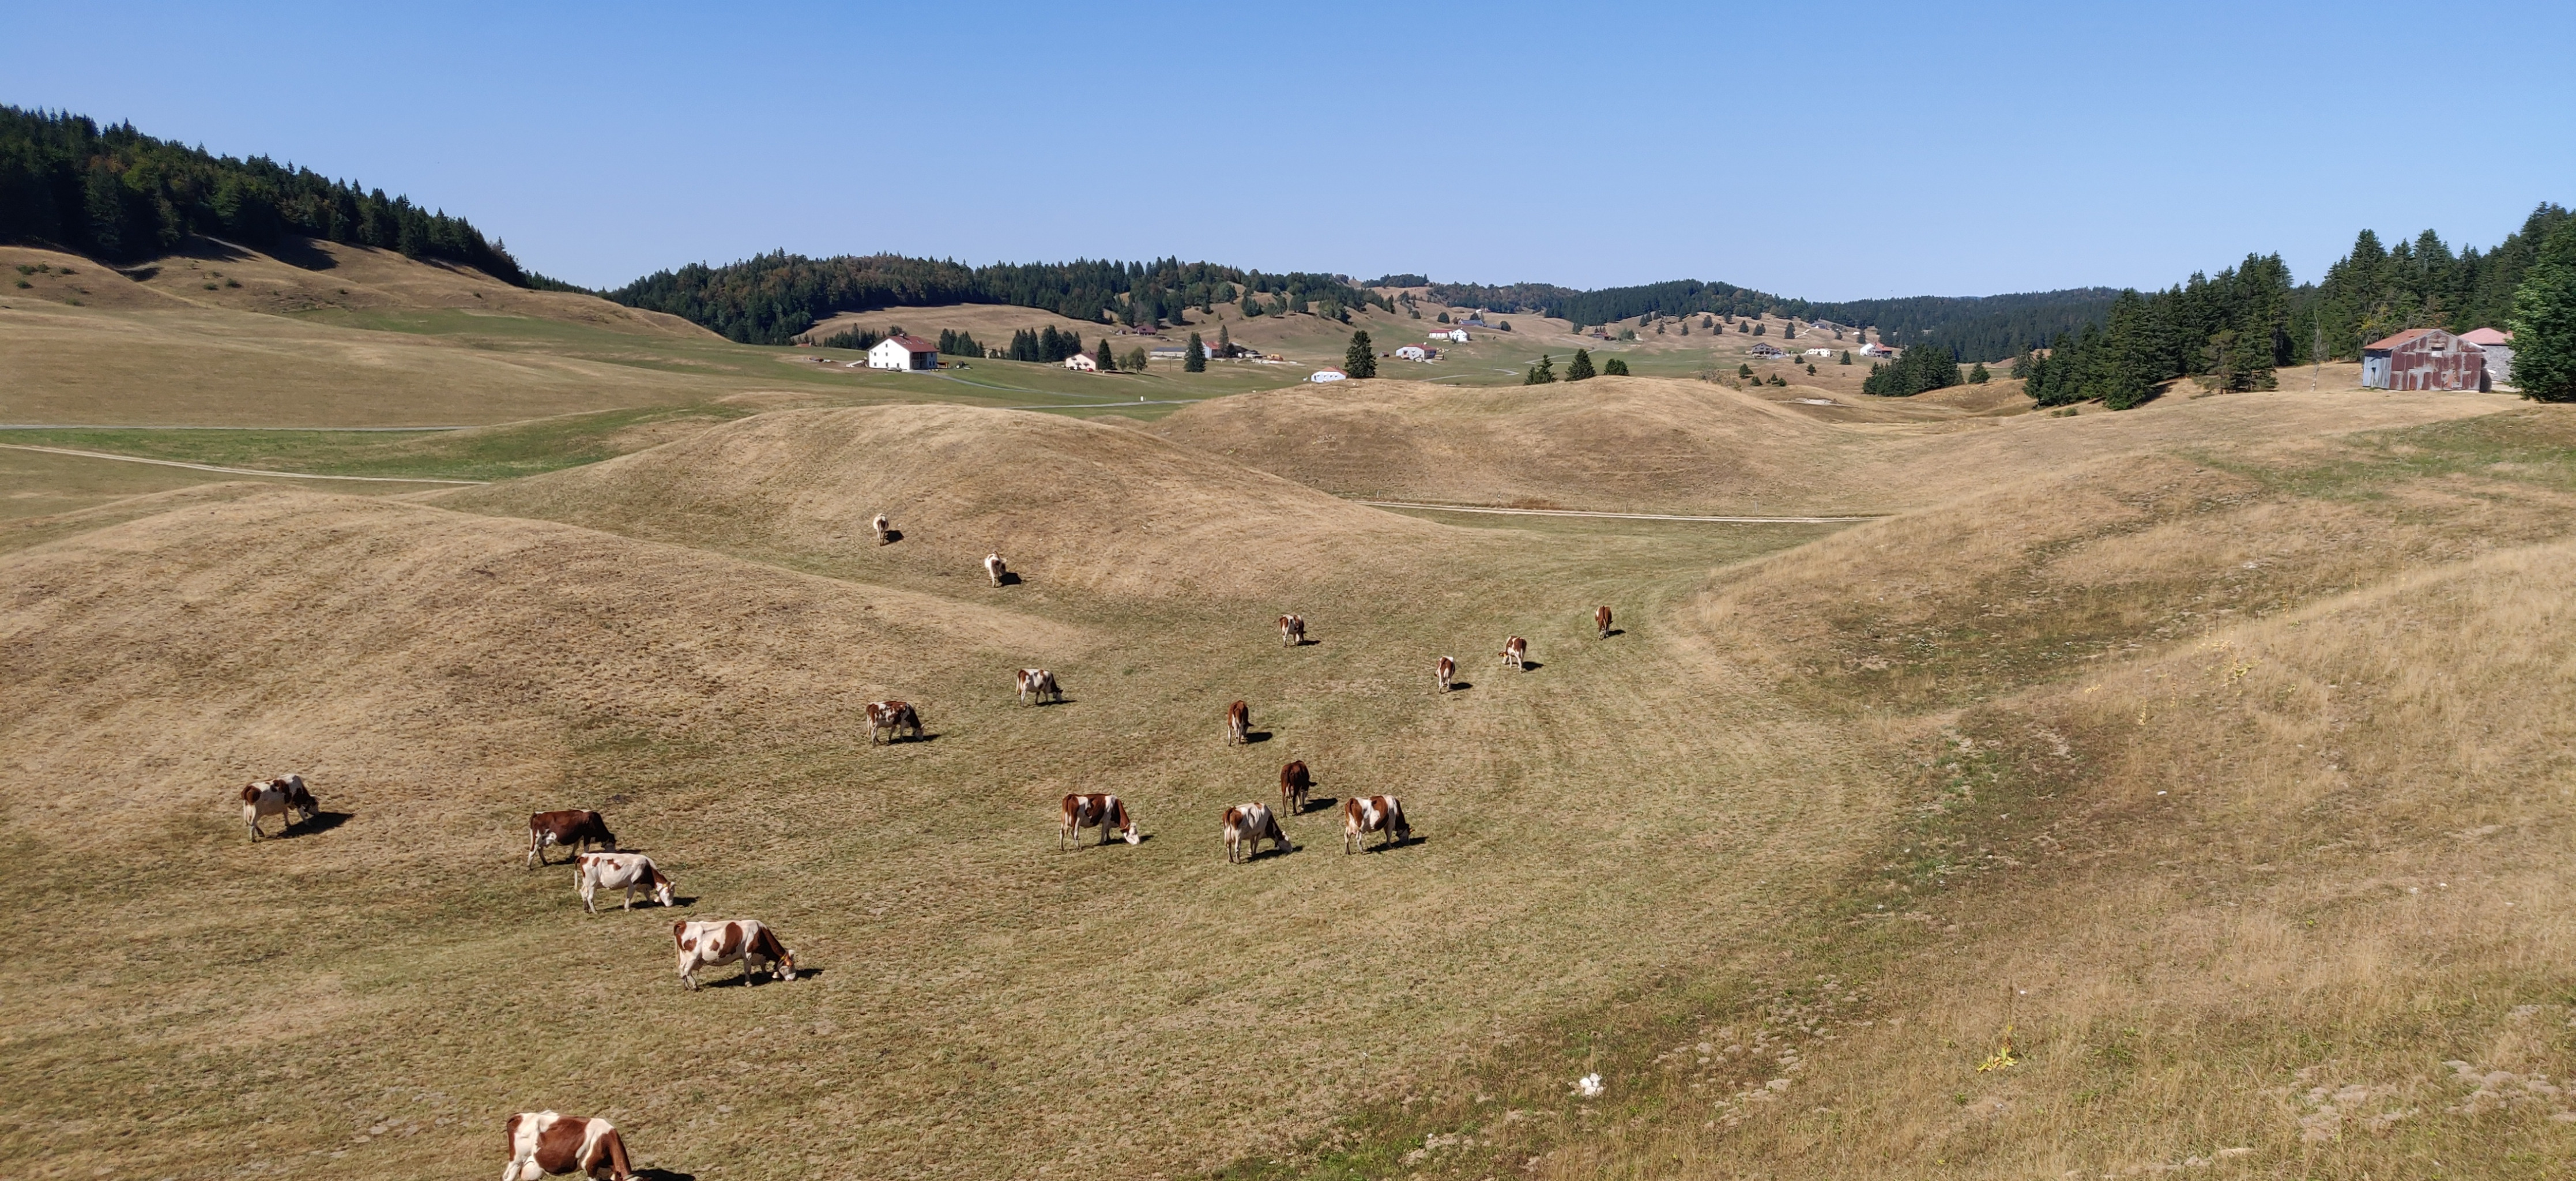
[{"label": "dark conifer-covered ridge on the horizon behind the white farmhouse", "polygon": [[1188,307],[1231,302],[1242,302],[1247,315],[1273,309],[1340,317],[1350,307],[1388,307],[1386,297],[1350,286],[1345,276],[1260,273],[1177,258],[963,266],[904,255],[773,253],[657,271],[605,294],[755,346],[783,346],[842,312],[907,304],[1018,304],[1084,322],[1115,317],[1133,325],[1180,320]]}]

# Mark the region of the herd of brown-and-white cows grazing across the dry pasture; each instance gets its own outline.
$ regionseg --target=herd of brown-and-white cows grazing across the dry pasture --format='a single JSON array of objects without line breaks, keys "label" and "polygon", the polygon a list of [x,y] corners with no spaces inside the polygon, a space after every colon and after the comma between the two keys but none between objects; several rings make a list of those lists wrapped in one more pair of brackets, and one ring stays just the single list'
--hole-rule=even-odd
[{"label": "herd of brown-and-white cows grazing across the dry pasture", "polygon": [[[884,513],[871,521],[871,531],[876,534],[876,544],[886,544],[896,536],[886,526]],[[1002,562],[1002,554],[984,557],[984,575],[992,578],[992,585],[1005,585],[1010,567]],[[1592,624],[1595,632],[1607,639],[1610,609],[1597,609],[1592,614]],[[1285,614],[1278,619],[1278,627],[1280,645],[1306,645],[1303,616]],[[1528,670],[1528,639],[1517,634],[1504,639],[1502,663]],[[1443,655],[1432,668],[1437,691],[1448,694],[1455,683],[1458,663]],[[1020,704],[1064,701],[1064,691],[1056,688],[1056,673],[1046,668],[1020,668],[1015,683]],[[866,712],[868,745],[876,745],[878,735],[884,735],[886,743],[904,735],[922,737],[922,714],[907,701],[868,701]],[[1242,745],[1249,740],[1252,707],[1234,701],[1226,707],[1226,743]],[[1280,766],[1278,810],[1257,799],[1226,807],[1218,828],[1218,835],[1226,843],[1226,864],[1260,856],[1265,841],[1278,854],[1293,851],[1296,846],[1288,841],[1288,830],[1280,828],[1280,815],[1303,815],[1311,792],[1314,771],[1306,768],[1306,761],[1291,761]],[[283,817],[283,828],[294,828],[296,823],[314,820],[317,815],[319,807],[314,805],[312,789],[304,786],[301,774],[260,779],[242,786],[242,825],[250,828],[252,841],[260,841],[260,820],[265,817]],[[1144,841],[1144,833],[1136,825],[1136,812],[1108,792],[1064,797],[1056,851],[1082,846],[1084,828],[1097,828],[1103,846],[1110,841],[1126,841],[1131,846]],[[1342,799],[1342,854],[1365,848],[1370,833],[1381,835],[1378,848],[1412,841],[1414,830],[1404,817],[1404,802],[1386,794]],[[600,890],[623,892],[621,910],[631,910],[639,892],[665,908],[675,905],[670,874],[665,874],[652,856],[621,854],[616,833],[608,830],[608,820],[598,812],[562,810],[531,815],[528,869],[554,864],[546,859],[549,848],[572,851],[574,890],[582,895],[585,913],[598,913],[595,900]],[[742,964],[744,982],[762,975],[773,980],[796,980],[796,952],[778,939],[778,931],[768,928],[757,918],[683,918],[670,926],[670,939],[680,962],[680,985],[688,990],[698,988],[698,970],[726,964]],[[634,1176],[634,1168],[626,1160],[626,1142],[605,1119],[567,1117],[559,1111],[520,1111],[507,1122],[507,1140],[510,1166],[502,1171],[502,1181],[538,1181],[549,1173],[582,1173],[608,1181],[626,1181]]]}]

